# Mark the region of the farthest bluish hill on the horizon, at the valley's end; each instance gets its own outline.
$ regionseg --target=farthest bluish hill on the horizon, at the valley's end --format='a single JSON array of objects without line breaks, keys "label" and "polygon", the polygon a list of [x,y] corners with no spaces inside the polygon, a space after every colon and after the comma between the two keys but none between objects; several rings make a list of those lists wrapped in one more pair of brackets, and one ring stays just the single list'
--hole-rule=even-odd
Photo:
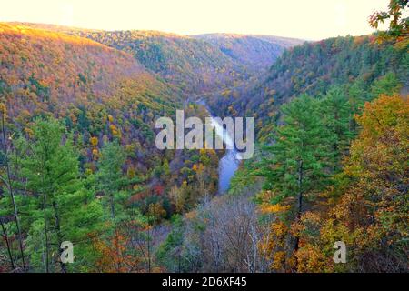
[{"label": "farthest bluish hill on the horizon, at the valley's end", "polygon": [[193,35],[219,48],[255,73],[273,65],[284,49],[301,45],[304,41],[270,35],[207,34]]}]

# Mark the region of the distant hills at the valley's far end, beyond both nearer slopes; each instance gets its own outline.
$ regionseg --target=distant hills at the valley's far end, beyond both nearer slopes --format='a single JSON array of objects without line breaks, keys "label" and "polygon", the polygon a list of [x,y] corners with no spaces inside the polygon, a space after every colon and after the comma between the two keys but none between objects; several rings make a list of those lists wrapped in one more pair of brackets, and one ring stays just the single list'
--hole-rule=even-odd
[{"label": "distant hills at the valley's far end, beyond both nearer slopes", "polygon": [[269,35],[175,35],[157,31],[102,31],[18,24],[86,37],[123,50],[185,95],[235,86],[259,75],[285,48],[301,40]]}]

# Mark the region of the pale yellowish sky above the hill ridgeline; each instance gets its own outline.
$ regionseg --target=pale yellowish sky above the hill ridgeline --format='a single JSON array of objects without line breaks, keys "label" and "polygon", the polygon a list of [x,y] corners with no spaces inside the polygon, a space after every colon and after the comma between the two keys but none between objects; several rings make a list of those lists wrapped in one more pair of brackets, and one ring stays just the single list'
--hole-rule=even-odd
[{"label": "pale yellowish sky above the hill ridgeline", "polygon": [[318,40],[373,32],[389,0],[0,0],[0,21],[180,35],[236,33]]}]

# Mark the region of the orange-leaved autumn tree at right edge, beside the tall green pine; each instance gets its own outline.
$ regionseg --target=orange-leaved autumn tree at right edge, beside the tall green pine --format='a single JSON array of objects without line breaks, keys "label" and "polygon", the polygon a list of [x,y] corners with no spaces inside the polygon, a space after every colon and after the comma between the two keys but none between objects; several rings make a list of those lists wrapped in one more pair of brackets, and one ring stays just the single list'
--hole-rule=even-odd
[{"label": "orange-leaved autumn tree at right edge, beside the tall green pine", "polygon": [[[297,226],[304,241],[298,271],[407,272],[408,121],[407,98],[382,95],[365,104],[336,193],[325,190],[330,207],[304,214]],[[340,240],[348,260],[335,266],[332,247]]]}]

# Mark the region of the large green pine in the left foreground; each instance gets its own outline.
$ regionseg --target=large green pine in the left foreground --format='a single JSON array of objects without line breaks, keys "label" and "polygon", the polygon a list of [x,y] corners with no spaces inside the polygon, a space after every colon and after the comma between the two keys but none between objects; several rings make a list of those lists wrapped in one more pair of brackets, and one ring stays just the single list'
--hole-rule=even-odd
[{"label": "large green pine in the left foreground", "polygon": [[64,127],[50,118],[36,119],[31,129],[33,136],[25,140],[26,156],[21,162],[22,178],[35,197],[27,237],[30,265],[44,265],[45,272],[50,272],[58,262],[60,271],[67,272],[59,260],[61,244],[71,241],[78,252],[90,246],[85,239],[98,229],[102,209],[78,178],[78,154]]}]

